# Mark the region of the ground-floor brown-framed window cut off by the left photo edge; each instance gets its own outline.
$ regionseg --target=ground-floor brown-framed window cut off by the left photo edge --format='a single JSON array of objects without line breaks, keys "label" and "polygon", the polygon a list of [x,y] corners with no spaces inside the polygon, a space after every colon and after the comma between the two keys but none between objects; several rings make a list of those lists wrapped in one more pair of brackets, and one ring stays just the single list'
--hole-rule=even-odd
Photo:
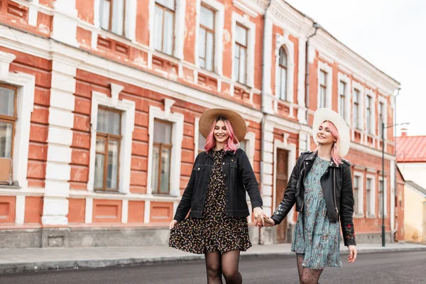
[{"label": "ground-floor brown-framed window cut off by the left photo edge", "polygon": [[0,84],[0,158],[12,158],[16,123],[16,88]]}]

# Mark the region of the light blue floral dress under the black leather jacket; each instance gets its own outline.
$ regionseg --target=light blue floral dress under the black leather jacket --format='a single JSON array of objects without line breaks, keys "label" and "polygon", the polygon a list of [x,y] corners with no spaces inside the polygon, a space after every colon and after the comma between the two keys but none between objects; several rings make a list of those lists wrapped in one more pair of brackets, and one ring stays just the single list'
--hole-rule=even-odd
[{"label": "light blue floral dress under the black leather jacket", "polygon": [[339,222],[329,222],[320,182],[328,166],[328,160],[315,158],[305,178],[305,209],[297,217],[291,246],[291,251],[305,254],[302,265],[311,269],[342,266]]}]

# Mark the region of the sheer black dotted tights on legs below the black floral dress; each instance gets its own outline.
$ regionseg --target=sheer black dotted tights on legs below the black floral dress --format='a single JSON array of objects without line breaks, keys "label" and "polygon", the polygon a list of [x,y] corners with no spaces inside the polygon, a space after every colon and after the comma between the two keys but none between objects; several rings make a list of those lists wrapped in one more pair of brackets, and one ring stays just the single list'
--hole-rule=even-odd
[{"label": "sheer black dotted tights on legs below the black floral dress", "polygon": [[239,273],[239,250],[220,253],[212,251],[206,256],[207,284],[222,284],[222,274],[226,284],[241,284],[243,278]]}]

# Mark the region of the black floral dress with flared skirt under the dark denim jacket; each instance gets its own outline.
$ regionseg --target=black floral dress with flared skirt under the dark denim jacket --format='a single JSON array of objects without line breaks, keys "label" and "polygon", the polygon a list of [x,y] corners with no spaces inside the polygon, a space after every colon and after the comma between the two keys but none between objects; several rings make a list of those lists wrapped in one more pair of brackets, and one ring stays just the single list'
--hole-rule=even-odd
[{"label": "black floral dress with flared skirt under the dark denim jacket", "polygon": [[225,152],[214,151],[214,167],[201,218],[188,217],[170,230],[169,246],[190,253],[246,251],[251,247],[246,217],[227,217],[226,187],[222,173]]}]

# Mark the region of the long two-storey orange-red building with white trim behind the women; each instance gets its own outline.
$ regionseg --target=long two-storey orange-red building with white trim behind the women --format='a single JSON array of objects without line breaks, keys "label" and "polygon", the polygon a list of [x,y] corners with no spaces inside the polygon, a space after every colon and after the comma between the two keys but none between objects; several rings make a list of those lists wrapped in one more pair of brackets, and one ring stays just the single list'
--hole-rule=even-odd
[{"label": "long two-storey orange-red building with white trim behind the women", "polygon": [[[391,240],[395,140],[380,122],[400,84],[285,1],[0,3],[3,246],[165,244],[214,107],[246,119],[267,214],[315,149],[315,109],[342,114],[357,238],[380,241],[384,212]],[[251,239],[290,241],[295,219]]]}]

